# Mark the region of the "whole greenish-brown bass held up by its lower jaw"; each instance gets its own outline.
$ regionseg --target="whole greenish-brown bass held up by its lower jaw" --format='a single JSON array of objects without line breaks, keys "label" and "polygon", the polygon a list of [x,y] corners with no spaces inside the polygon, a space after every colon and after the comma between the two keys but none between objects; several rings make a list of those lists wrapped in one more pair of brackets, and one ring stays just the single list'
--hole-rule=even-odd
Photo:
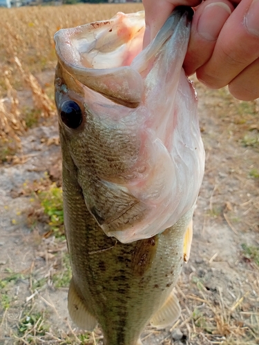
[{"label": "whole greenish-brown bass held up by its lower jaw", "polygon": [[105,345],[140,345],[180,315],[204,174],[197,95],[182,68],[191,9],[142,49],[144,12],[55,34],[68,311]]}]

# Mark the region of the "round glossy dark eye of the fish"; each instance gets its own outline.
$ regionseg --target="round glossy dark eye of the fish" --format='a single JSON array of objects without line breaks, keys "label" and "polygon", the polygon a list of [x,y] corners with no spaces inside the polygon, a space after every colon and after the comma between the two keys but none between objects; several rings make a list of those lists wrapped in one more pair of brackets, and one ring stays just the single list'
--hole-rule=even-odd
[{"label": "round glossy dark eye of the fish", "polygon": [[83,119],[81,108],[75,101],[64,101],[61,106],[60,117],[69,128],[78,128]]}]

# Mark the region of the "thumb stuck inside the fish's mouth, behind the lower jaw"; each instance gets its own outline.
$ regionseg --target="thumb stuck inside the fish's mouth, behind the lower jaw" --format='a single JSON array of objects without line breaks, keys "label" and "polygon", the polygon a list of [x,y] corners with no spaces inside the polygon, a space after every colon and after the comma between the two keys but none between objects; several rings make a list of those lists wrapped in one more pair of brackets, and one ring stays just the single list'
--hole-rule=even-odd
[{"label": "thumb stuck inside the fish's mouth, behind the lower jaw", "polygon": [[145,8],[146,30],[143,47],[155,38],[176,6],[197,6],[202,0],[142,0]]}]

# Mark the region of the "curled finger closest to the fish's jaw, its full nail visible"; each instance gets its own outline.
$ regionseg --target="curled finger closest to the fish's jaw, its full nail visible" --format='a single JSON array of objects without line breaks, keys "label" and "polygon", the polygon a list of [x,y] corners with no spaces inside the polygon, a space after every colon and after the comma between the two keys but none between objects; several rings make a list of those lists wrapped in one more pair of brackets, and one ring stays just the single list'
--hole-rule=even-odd
[{"label": "curled finger closest to the fish's jaw, its full nail visible", "polygon": [[233,10],[228,0],[207,0],[198,6],[193,15],[189,46],[184,59],[186,75],[192,75],[209,61],[220,30]]}]

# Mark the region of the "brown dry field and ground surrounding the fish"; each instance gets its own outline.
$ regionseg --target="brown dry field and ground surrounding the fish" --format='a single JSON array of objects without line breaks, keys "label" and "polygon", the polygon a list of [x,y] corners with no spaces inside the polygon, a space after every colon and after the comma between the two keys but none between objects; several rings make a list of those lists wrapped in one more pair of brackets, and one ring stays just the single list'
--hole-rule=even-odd
[{"label": "brown dry field and ground surrounding the fish", "polygon": [[[97,344],[68,317],[53,34],[141,4],[0,8],[0,345]],[[195,81],[207,152],[182,315],[144,345],[259,344],[258,100]],[[131,344],[128,344],[131,345]]]}]

